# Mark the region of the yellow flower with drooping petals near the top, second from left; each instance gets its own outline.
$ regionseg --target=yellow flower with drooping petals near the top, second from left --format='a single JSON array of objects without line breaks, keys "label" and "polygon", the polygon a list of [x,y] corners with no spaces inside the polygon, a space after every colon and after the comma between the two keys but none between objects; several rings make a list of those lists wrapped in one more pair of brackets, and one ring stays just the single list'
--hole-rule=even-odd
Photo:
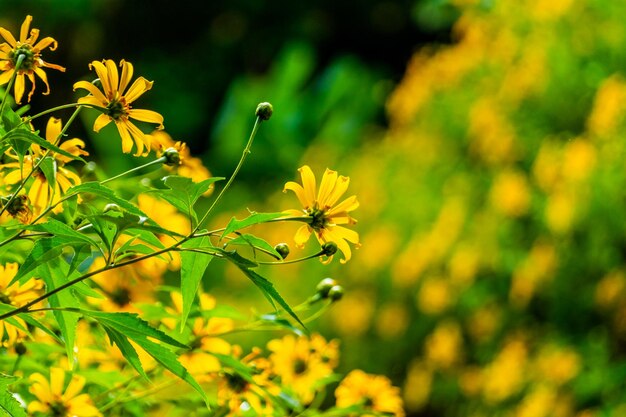
[{"label": "yellow flower with drooping petals near the top, second from left", "polygon": [[133,66],[130,62],[122,60],[120,67],[122,68],[121,76],[113,60],[93,61],[89,64],[89,68],[95,69],[98,74],[102,90],[88,81],[78,81],[74,84],[74,90],[82,88],[90,93],[88,96],[79,98],[79,103],[91,104],[102,109],[103,113],[98,116],[93,125],[95,132],[99,132],[110,122],[115,122],[122,137],[122,151],[129,153],[134,142],[137,146],[137,152],[134,155],[146,156],[150,152],[150,135],[143,133],[130,119],[156,123],[158,129],[163,129],[163,116],[152,110],[132,108],[131,104],[152,88],[152,81],[139,77],[128,87],[133,78]]}]

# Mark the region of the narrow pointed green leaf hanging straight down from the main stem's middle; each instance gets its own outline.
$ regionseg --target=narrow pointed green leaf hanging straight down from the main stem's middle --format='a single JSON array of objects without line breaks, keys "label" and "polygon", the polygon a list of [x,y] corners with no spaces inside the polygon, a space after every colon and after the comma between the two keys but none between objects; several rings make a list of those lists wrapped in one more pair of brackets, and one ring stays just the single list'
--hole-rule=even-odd
[{"label": "narrow pointed green leaf hanging straight down from the main stem's middle", "polygon": [[[201,249],[211,247],[212,245],[211,240],[207,236],[203,236],[199,239],[190,239],[181,246],[183,249]],[[204,271],[206,271],[213,256],[198,252],[182,251],[180,258],[180,292],[183,296],[183,312],[180,318],[180,329],[182,331],[187,317],[189,317],[193,301],[196,298]]]}]

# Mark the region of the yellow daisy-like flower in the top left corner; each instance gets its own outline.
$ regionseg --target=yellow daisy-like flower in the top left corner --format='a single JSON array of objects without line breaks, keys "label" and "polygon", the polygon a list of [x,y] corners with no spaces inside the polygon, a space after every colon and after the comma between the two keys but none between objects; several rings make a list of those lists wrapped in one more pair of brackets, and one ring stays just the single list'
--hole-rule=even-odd
[{"label": "yellow daisy-like flower in the top left corner", "polygon": [[[48,77],[42,68],[52,68],[65,72],[65,68],[50,64],[41,59],[41,51],[50,48],[51,51],[57,49],[57,41],[54,38],[46,37],[37,42],[39,38],[39,29],[30,29],[32,16],[26,16],[22,28],[20,29],[20,40],[6,30],[0,27],[0,36],[4,38],[4,42],[0,44],[0,85],[4,85],[11,80],[15,71],[15,101],[19,104],[22,101],[25,89],[25,78],[28,77],[32,88],[28,93],[28,101],[30,101],[35,92],[35,74],[46,84],[46,91],[43,94],[50,94],[50,86],[48,85]],[[30,29],[30,30],[29,30]],[[36,42],[36,43],[35,43]],[[24,56],[19,68],[16,68],[18,57]]]}]

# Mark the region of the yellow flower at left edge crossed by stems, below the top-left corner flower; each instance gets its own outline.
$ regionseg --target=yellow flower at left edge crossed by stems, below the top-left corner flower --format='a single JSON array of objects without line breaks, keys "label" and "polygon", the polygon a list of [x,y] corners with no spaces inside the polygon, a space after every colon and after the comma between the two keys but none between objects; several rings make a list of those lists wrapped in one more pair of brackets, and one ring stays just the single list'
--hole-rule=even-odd
[{"label": "yellow flower at left edge crossed by stems, below the top-left corner flower", "polygon": [[[61,134],[61,130],[61,120],[51,117],[46,126],[46,140],[50,143],[56,144],[57,139]],[[59,145],[59,148],[76,156],[89,155],[83,150],[84,147],[85,143],[77,138],[66,140]],[[22,182],[24,178],[30,175],[37,162],[44,156],[45,152],[39,145],[32,144],[30,149],[31,153],[26,155],[21,163],[16,161],[0,165],[0,168],[12,170],[4,177],[5,183],[17,184]],[[17,155],[8,154],[8,156],[16,160],[18,159]],[[64,167],[65,163],[71,161],[69,157],[57,153],[51,153],[47,156],[47,158],[51,158],[53,160],[52,165],[56,168],[55,184],[54,187],[50,185],[41,168],[37,168],[37,170],[32,174],[33,182],[28,191],[28,198],[35,208],[35,213],[40,213],[48,207],[49,204],[52,205],[57,203],[67,189],[81,183],[78,175]],[[53,211],[55,213],[59,213],[62,210],[63,206],[58,205]]]}]

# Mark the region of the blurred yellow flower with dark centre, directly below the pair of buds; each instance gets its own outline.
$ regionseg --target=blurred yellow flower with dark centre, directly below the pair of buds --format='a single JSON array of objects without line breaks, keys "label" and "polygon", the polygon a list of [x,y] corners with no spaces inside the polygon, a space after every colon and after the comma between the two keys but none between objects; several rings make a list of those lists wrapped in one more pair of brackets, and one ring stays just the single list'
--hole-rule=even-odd
[{"label": "blurred yellow flower with dark centre, directly below the pair of buds", "polygon": [[[317,341],[307,337],[287,335],[282,339],[270,340],[267,348],[272,352],[269,360],[272,372],[280,378],[280,384],[309,404],[321,388],[320,382],[332,374],[336,365],[336,342],[324,343],[321,336]],[[325,345],[325,346],[324,346]]]}]

